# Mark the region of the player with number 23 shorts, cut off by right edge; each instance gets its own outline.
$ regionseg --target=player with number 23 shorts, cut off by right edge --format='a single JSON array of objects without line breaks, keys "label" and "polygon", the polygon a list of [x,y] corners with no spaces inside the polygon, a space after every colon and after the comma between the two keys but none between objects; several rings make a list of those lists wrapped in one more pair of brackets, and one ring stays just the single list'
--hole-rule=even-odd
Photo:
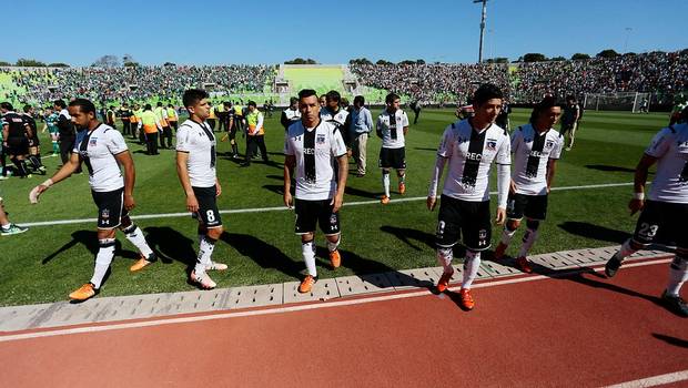
[{"label": "player with number 23 shorts, cut off by right edge", "polygon": [[[657,173],[647,200],[645,184],[648,170],[657,163]],[[659,131],[640,157],[634,178],[630,214],[641,211],[631,238],[611,256],[605,266],[608,277],[616,275],[624,259],[652,243],[657,233],[676,242],[676,256],[669,266],[669,283],[661,303],[669,310],[688,317],[688,305],[679,293],[688,279],[688,123],[674,124]]]}]

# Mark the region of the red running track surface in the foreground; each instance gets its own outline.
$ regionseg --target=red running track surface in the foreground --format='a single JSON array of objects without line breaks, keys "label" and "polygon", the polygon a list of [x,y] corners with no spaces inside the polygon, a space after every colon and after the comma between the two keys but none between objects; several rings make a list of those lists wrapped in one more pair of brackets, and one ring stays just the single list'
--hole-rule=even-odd
[{"label": "red running track surface in the foreground", "polygon": [[[452,296],[0,341],[3,387],[598,387],[688,370],[668,264]],[[326,305],[323,304],[323,305]],[[0,337],[0,340],[2,337]],[[688,381],[674,386],[686,386]]]}]

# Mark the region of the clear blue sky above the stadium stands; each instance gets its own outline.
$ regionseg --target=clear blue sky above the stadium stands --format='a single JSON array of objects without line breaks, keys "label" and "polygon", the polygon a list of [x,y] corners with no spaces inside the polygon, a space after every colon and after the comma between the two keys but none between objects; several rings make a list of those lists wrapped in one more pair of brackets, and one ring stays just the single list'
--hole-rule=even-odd
[{"label": "clear blue sky above the stadium stands", "polygon": [[[0,60],[9,62],[89,65],[105,54],[129,53],[143,64],[282,63],[296,57],[320,63],[362,57],[468,63],[478,55],[480,6],[473,0],[3,0],[3,6],[11,12],[3,12]],[[679,50],[688,48],[687,17],[688,0],[489,0],[484,57]]]}]

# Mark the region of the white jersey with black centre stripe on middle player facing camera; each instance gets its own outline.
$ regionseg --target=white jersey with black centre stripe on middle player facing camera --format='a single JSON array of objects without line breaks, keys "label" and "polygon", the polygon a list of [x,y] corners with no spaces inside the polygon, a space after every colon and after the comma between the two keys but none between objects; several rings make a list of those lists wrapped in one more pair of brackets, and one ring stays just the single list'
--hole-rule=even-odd
[{"label": "white jersey with black centre stripe on middle player facing camera", "polygon": [[335,157],[346,154],[337,126],[322,121],[307,131],[300,121],[292,124],[284,139],[284,154],[296,157],[296,198],[330,200],[337,190]]}]

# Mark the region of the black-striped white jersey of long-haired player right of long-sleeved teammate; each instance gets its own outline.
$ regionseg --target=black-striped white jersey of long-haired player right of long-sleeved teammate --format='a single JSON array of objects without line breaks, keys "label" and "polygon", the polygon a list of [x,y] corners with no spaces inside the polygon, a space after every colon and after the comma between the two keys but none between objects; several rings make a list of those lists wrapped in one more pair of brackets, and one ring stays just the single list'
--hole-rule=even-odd
[{"label": "black-striped white jersey of long-haired player right of long-sleeved teammate", "polygon": [[517,194],[547,194],[547,163],[559,159],[563,144],[564,137],[559,132],[549,129],[539,134],[533,124],[519,126],[512,133],[512,180]]}]

